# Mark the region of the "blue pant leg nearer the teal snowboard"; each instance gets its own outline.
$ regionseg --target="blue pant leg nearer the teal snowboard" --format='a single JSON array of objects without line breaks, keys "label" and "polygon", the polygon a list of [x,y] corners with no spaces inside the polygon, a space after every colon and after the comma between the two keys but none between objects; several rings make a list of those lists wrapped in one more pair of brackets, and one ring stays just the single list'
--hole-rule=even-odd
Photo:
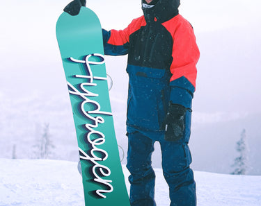
[{"label": "blue pant leg nearer the teal snowboard", "polygon": [[132,206],[156,206],[155,172],[151,166],[154,151],[152,139],[132,132],[128,135],[127,169],[129,169],[130,195]]}]

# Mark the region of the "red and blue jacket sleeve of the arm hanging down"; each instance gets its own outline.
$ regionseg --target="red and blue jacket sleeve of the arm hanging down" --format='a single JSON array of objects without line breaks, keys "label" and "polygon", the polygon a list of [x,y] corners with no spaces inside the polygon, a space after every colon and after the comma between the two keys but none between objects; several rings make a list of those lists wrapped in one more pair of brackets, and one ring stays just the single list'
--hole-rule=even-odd
[{"label": "red and blue jacket sleeve of the arm hanging down", "polygon": [[170,101],[185,108],[191,108],[193,92],[196,88],[196,64],[199,55],[191,24],[182,22],[177,26],[173,36]]}]

